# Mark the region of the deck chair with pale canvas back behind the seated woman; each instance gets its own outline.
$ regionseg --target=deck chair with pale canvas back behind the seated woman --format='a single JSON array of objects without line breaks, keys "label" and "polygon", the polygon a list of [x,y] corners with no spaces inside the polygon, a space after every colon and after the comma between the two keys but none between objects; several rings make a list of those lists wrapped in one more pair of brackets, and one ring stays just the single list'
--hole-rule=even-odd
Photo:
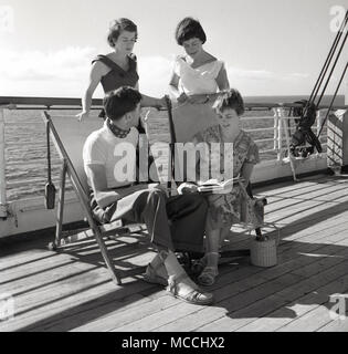
[{"label": "deck chair with pale canvas back behind the seated woman", "polygon": [[[177,102],[167,102],[168,104],[168,117],[169,117],[169,128],[170,128],[170,137],[171,137],[171,154],[176,154],[177,149],[175,147],[175,143],[188,143],[192,138],[194,134],[200,131],[203,131],[210,126],[213,126],[218,123],[217,116],[212,110],[212,103],[204,104],[178,104]],[[179,156],[179,157],[178,157]],[[180,178],[184,180],[187,177],[186,171],[182,170],[181,166],[186,166],[186,168],[193,168],[193,166],[188,166],[186,160],[182,162],[182,155],[177,154],[176,158],[172,158],[175,164],[172,165],[172,175],[176,178]],[[184,159],[184,157],[183,157]],[[181,168],[181,170],[180,170]],[[179,171],[178,171],[179,169]],[[247,195],[253,198],[252,186],[251,184],[246,187]],[[263,198],[264,205],[266,205],[266,199]],[[255,233],[259,238],[262,238],[262,231],[260,228],[255,229]],[[231,258],[231,257],[240,257],[240,256],[249,256],[249,249],[240,249],[240,250],[230,250],[222,251],[222,258]]]}]

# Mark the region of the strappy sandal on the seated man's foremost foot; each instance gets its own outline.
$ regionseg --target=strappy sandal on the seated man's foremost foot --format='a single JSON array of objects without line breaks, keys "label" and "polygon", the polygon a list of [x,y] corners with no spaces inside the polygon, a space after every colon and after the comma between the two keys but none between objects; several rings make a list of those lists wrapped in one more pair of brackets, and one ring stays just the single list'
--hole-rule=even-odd
[{"label": "strappy sandal on the seated man's foremost foot", "polygon": [[181,295],[178,292],[178,284],[183,279],[187,279],[188,275],[186,273],[180,274],[179,277],[169,277],[167,291],[171,293],[175,298],[183,300],[188,303],[197,304],[197,305],[209,305],[213,302],[213,295],[209,292],[202,292],[199,289],[193,289],[184,295]]}]

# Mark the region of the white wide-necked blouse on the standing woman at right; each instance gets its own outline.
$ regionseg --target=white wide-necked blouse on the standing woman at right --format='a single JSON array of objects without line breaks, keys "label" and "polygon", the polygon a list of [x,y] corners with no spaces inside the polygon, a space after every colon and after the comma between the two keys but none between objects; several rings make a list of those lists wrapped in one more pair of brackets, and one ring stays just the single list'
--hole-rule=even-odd
[{"label": "white wide-necked blouse on the standing woman at right", "polygon": [[217,77],[223,65],[222,61],[214,60],[201,66],[191,67],[182,56],[178,56],[173,72],[179,76],[179,92],[187,95],[218,92]]}]

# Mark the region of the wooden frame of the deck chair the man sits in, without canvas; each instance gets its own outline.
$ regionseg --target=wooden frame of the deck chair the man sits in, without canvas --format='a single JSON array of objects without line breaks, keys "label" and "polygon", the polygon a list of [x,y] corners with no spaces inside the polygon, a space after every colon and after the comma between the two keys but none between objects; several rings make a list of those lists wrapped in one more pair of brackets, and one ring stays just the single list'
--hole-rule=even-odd
[{"label": "wooden frame of the deck chair the man sits in, without canvas", "polygon": [[[56,214],[56,230],[55,230],[55,239],[53,242],[49,244],[50,249],[55,250],[61,246],[61,242],[64,238],[67,238],[71,235],[75,235],[76,232],[81,230],[73,230],[73,231],[63,231],[63,211],[64,211],[64,196],[65,196],[65,181],[66,176],[70,177],[72,185],[74,187],[74,190],[80,199],[80,202],[82,205],[83,211],[86,215],[89,228],[93,232],[93,236],[96,239],[96,242],[99,247],[101,253],[103,256],[103,259],[106,263],[106,267],[110,273],[110,277],[113,281],[115,281],[118,285],[122,284],[122,277],[119,271],[115,268],[106,244],[103,240],[103,237],[108,235],[115,235],[115,231],[123,230],[124,232],[127,231],[127,228],[122,228],[120,220],[116,220],[114,222],[107,223],[107,225],[97,225],[95,221],[91,207],[89,207],[89,197],[86,195],[85,189],[78,178],[78,175],[63,146],[63,143],[54,127],[54,124],[51,119],[50,114],[44,111],[43,112],[43,119],[45,124],[48,125],[48,133],[54,138],[54,143],[59,149],[59,153],[62,156],[62,168],[61,168],[61,176],[60,176],[60,191],[59,191],[59,200],[57,200],[57,214]],[[84,229],[88,230],[88,229]],[[140,227],[140,230],[143,230],[143,227]]]}]

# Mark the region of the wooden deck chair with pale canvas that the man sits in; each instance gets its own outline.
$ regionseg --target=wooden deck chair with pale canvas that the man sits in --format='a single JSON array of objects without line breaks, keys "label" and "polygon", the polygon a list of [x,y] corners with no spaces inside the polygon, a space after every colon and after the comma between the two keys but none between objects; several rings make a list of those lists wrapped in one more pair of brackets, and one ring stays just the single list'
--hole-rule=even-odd
[{"label": "wooden deck chair with pale canvas that the man sits in", "polygon": [[[64,244],[64,239],[70,238],[82,230],[63,231],[63,211],[64,211],[64,194],[66,175],[70,177],[73,188],[80,199],[83,211],[87,218],[92,235],[95,237],[104,258],[112,279],[122,284],[120,273],[116,270],[112,259],[107,252],[103,237],[129,231],[128,227],[124,227],[122,220],[117,220],[107,225],[98,225],[93,217],[89,207],[89,188],[87,177],[83,168],[82,150],[86,137],[103,125],[102,119],[86,118],[82,123],[77,122],[74,116],[51,116],[48,112],[43,112],[43,119],[46,124],[46,131],[53,138],[53,143],[62,159],[62,169],[60,177],[60,194],[57,200],[56,231],[55,239],[50,243],[50,249],[55,250]],[[133,231],[146,229],[145,226],[138,225]],[[86,229],[84,229],[86,230]]]}]

